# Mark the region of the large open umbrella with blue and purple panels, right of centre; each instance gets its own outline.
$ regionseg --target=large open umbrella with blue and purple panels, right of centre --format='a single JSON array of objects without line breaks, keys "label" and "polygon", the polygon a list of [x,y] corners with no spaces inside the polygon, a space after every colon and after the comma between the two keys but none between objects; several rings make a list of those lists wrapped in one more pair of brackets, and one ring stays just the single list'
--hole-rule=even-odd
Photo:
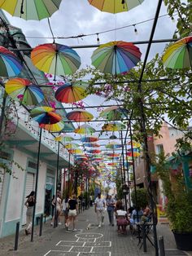
[{"label": "large open umbrella with blue and purple panels, right of centre", "polygon": [[142,53],[131,42],[108,42],[94,51],[92,64],[103,73],[114,75],[133,68],[140,60]]}]

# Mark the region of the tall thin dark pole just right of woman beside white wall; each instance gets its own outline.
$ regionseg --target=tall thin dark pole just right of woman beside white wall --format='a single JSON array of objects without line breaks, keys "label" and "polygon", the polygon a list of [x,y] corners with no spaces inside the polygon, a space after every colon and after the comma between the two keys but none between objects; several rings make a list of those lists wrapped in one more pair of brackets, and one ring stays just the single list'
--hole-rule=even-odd
[{"label": "tall thin dark pole just right of woman beside white wall", "polygon": [[37,184],[38,184],[38,175],[39,175],[39,160],[40,160],[40,149],[41,149],[41,134],[42,134],[42,129],[40,128],[39,146],[38,146],[38,154],[37,154],[37,172],[36,172],[36,182],[35,182],[35,204],[34,204],[34,206],[33,206],[33,221],[32,221],[31,242],[33,242],[33,232],[34,232],[34,223],[35,223],[35,210],[36,210],[36,204],[37,204]]}]

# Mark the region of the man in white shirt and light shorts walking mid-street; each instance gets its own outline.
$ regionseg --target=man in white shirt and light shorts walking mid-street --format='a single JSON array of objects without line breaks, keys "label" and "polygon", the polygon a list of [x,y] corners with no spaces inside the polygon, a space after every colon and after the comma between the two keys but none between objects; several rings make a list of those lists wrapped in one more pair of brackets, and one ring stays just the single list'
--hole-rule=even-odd
[{"label": "man in white shirt and light shorts walking mid-street", "polygon": [[103,226],[104,221],[105,200],[101,198],[101,193],[94,201],[94,211],[98,215],[98,227]]}]

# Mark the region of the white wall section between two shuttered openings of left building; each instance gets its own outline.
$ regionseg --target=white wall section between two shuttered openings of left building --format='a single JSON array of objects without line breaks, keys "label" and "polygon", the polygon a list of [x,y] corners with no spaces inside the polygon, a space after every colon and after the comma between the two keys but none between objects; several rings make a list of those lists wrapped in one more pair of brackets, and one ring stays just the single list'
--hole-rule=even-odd
[{"label": "white wall section between two shuttered openings of left building", "polygon": [[[20,166],[26,169],[27,155],[23,152],[14,150],[13,160],[16,161]],[[7,196],[7,213],[5,221],[11,221],[20,218],[22,209],[22,199],[24,193],[24,180],[26,171],[21,170],[14,164],[12,165],[12,171],[15,173],[15,178],[11,176],[9,191]]]}]

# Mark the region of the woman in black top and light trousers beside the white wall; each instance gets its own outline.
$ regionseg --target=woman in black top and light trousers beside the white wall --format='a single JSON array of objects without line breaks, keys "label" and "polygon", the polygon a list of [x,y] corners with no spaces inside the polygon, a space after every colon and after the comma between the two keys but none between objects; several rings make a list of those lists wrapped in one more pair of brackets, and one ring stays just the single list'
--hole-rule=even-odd
[{"label": "woman in black top and light trousers beside the white wall", "polygon": [[27,201],[25,201],[24,205],[27,207],[27,212],[26,212],[26,220],[27,220],[27,225],[25,229],[25,234],[28,236],[28,234],[31,233],[32,229],[32,222],[33,222],[33,207],[36,203],[35,201],[35,192],[32,191],[28,196],[26,196]]}]

